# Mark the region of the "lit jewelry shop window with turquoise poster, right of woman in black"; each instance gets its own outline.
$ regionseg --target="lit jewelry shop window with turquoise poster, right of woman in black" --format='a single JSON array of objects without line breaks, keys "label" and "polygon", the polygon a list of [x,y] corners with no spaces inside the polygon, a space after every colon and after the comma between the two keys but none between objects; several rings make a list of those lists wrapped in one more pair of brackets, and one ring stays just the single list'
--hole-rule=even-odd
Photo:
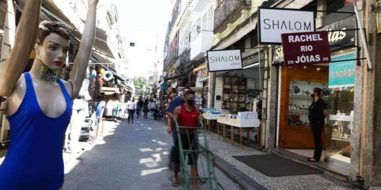
[{"label": "lit jewelry shop window with turquoise poster, right of woman in black", "polygon": [[[355,53],[332,56],[332,61],[355,59]],[[326,158],[351,163],[351,136],[354,122],[356,61],[329,65],[329,90],[333,96],[327,120]]]}]

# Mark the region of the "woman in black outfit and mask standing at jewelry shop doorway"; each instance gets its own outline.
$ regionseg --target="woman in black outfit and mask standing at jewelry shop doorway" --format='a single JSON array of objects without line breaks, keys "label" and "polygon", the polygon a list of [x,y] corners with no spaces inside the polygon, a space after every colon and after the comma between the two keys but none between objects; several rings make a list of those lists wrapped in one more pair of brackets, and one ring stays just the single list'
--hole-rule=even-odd
[{"label": "woman in black outfit and mask standing at jewelry shop doorway", "polygon": [[324,119],[328,116],[326,102],[322,100],[324,92],[320,88],[314,88],[311,92],[312,104],[308,107],[308,120],[311,125],[315,151],[312,158],[307,158],[308,162],[319,162],[322,157],[322,132],[324,129]]}]

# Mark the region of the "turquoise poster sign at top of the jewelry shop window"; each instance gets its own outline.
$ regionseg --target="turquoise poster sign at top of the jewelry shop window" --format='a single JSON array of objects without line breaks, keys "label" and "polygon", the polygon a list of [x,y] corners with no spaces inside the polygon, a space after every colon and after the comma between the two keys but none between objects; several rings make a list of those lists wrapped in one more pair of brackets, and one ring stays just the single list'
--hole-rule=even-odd
[{"label": "turquoise poster sign at top of the jewelry shop window", "polygon": [[[348,60],[355,58],[355,53],[350,53],[332,57],[332,61]],[[355,86],[355,65],[355,60],[330,63],[328,88]]]}]

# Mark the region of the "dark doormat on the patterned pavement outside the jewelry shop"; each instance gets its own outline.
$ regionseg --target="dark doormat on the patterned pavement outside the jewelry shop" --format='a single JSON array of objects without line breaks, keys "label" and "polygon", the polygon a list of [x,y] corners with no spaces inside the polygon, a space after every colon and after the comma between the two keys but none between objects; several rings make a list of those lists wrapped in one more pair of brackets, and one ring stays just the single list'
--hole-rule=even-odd
[{"label": "dark doormat on the patterned pavement outside the jewelry shop", "polygon": [[322,170],[273,154],[233,156],[233,158],[270,177],[323,173]]}]

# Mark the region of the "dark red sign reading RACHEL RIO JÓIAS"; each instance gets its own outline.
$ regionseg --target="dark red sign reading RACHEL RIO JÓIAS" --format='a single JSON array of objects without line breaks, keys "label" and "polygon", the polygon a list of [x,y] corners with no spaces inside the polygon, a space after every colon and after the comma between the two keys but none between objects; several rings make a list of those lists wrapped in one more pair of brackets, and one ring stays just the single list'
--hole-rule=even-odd
[{"label": "dark red sign reading RACHEL RIO J\u00d3IAS", "polygon": [[282,33],[284,65],[309,65],[331,62],[328,31]]}]

